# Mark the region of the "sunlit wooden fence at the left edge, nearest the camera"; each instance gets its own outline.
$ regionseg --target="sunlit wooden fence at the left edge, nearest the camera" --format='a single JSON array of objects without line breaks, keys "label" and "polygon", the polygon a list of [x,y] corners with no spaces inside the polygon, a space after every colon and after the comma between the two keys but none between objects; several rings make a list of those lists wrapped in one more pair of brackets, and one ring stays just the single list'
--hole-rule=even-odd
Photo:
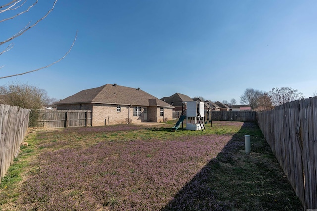
[{"label": "sunlit wooden fence at the left edge, nearest the camera", "polygon": [[0,104],[0,182],[20,150],[29,114],[30,109]]}]

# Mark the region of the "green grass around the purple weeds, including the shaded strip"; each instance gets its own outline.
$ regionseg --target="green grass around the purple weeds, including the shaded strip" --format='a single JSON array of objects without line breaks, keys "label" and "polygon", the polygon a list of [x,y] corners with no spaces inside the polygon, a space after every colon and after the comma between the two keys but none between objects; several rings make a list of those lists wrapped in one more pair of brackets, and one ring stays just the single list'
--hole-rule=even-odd
[{"label": "green grass around the purple weeds, including the shaded strip", "polygon": [[[98,144],[102,145],[105,143],[111,146],[130,146],[129,144],[133,146],[133,144],[140,140],[144,141],[145,144],[150,142],[174,143],[175,141],[185,143],[186,140],[189,140],[188,138],[195,141],[195,138],[206,138],[211,141],[217,138],[221,139],[221,137],[229,137],[227,140],[231,140],[222,151],[222,147],[219,147],[220,153],[214,155],[211,155],[212,153],[210,152],[209,154],[205,153],[211,160],[208,159],[204,161],[204,163],[199,160],[195,153],[188,156],[188,159],[196,159],[195,162],[197,163],[194,166],[199,166],[201,171],[198,172],[196,176],[194,175],[190,181],[186,181],[184,187],[175,190],[173,200],[167,200],[169,202],[168,205],[161,210],[177,210],[174,208],[178,204],[185,206],[186,200],[187,203],[191,203],[189,203],[188,207],[184,210],[206,208],[202,206],[204,206],[204,204],[208,205],[206,199],[211,196],[214,197],[212,203],[216,203],[216,205],[219,205],[223,210],[283,211],[302,209],[299,199],[296,197],[275,156],[272,154],[270,147],[264,140],[261,130],[256,124],[213,121],[212,127],[209,122],[205,124],[206,130],[190,131],[185,129],[186,124],[184,123],[183,129],[179,128],[177,131],[172,131],[171,128],[175,123],[175,120],[167,121],[167,123],[156,127],[138,127],[136,129],[122,131],[106,131],[106,129],[110,128],[108,126],[85,127],[87,131],[82,131],[82,128],[65,128],[56,131],[39,131],[29,135],[25,140],[29,143],[29,146],[21,147],[18,158],[14,159],[8,173],[2,178],[0,184],[0,211],[23,210],[23,204],[21,204],[20,198],[23,198],[23,196],[28,193],[21,192],[22,181],[25,180],[25,178],[32,178],[38,175],[41,172],[41,168],[46,166],[44,161],[37,160],[37,157],[41,155],[41,153],[63,152],[63,150],[67,152],[67,150],[71,149],[84,149],[85,152],[94,146],[98,147]],[[116,126],[113,126],[113,128],[115,127]],[[119,128],[121,126],[118,125],[117,127]],[[89,131],[89,129],[95,129],[96,131]],[[244,135],[251,136],[252,145],[250,155],[246,155],[244,151]],[[218,143],[215,143],[208,147],[216,148],[222,146],[217,144]],[[188,146],[188,149],[191,147],[192,145]],[[121,149],[124,148],[120,148],[120,150]],[[145,147],[145,149],[147,148]],[[154,147],[146,151],[145,154],[141,154],[139,148],[134,148],[134,150],[127,151],[124,156],[129,155],[131,160],[135,159],[133,162],[145,159],[146,162],[151,163],[158,159],[159,150],[159,147]],[[201,151],[204,152],[204,150],[205,148]],[[125,175],[122,171],[118,170],[117,168],[119,167],[116,166],[120,160],[119,151],[112,153],[111,156],[103,159],[107,162],[111,159],[118,159],[116,162],[113,162],[113,168],[97,171],[98,175],[96,175],[96,178],[109,177],[111,179]],[[178,153],[177,150],[175,150],[175,153]],[[162,163],[164,162],[163,155],[164,154],[160,154],[160,156],[162,156]],[[91,154],[87,154],[86,156],[89,157]],[[128,161],[130,162],[130,160]],[[82,167],[98,164],[98,162],[94,164],[86,162],[87,165],[86,163],[84,165],[84,162],[86,162],[86,160],[83,161]],[[175,161],[174,163],[177,164],[177,162],[178,161]],[[69,166],[69,168],[72,167]],[[128,166],[125,171],[127,177],[142,175],[140,174],[140,169],[137,168],[138,166]],[[175,166],[176,170],[178,170],[177,168],[186,169],[187,166]],[[186,169],[184,171],[189,172],[190,170],[191,169]],[[204,174],[200,176],[202,172]],[[100,175],[101,177],[99,177]],[[160,181],[159,178],[154,180],[152,176],[153,175],[150,174],[148,177],[144,177],[149,180],[144,179],[143,181],[138,181],[136,179],[139,186],[128,187],[128,197],[133,198],[133,195],[129,195],[130,193],[140,194],[144,191],[140,189],[144,184],[153,185],[155,182]],[[165,178],[167,176],[168,174],[163,177]],[[93,176],[93,178],[95,178],[95,176]],[[173,182],[177,184],[176,180]],[[56,183],[58,184],[58,182]],[[197,184],[200,184],[198,188],[195,186]],[[90,184],[85,185],[89,187]],[[82,186],[85,185],[82,184]],[[193,189],[192,187],[196,187],[197,189]],[[153,186],[152,189],[154,188],[155,186]],[[71,197],[72,200],[84,199],[86,194],[82,189],[73,188],[65,192],[66,193],[63,194]],[[190,195],[189,192],[194,192],[194,194]],[[102,198],[104,201],[101,202],[101,204],[107,209],[108,207],[115,208],[119,206],[122,199],[127,197],[119,197],[119,193],[111,195],[108,192],[99,192],[98,194],[105,196]],[[164,194],[159,197],[166,200],[166,195]],[[63,200],[65,201],[67,199]],[[140,203],[142,203],[142,201]],[[42,207],[42,210],[45,210],[45,207]]]}]

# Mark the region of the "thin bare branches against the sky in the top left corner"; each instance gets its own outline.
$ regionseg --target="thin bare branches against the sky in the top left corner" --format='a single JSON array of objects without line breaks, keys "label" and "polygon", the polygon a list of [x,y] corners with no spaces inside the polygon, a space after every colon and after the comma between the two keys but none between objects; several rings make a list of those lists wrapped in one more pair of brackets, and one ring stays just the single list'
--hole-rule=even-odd
[{"label": "thin bare branches against the sky in the top left corner", "polygon": [[[51,7],[51,9],[46,14],[44,14],[40,19],[38,19],[34,24],[31,24],[31,21],[30,21],[24,26],[23,29],[21,29],[17,33],[13,34],[12,36],[10,36],[8,38],[4,38],[3,40],[0,38],[0,47],[2,45],[4,45],[4,44],[7,44],[8,42],[11,42],[13,39],[23,35],[25,32],[27,32],[31,28],[35,27],[40,21],[45,19],[53,11],[57,1],[58,0],[55,0],[54,3],[53,3],[53,6]],[[38,3],[38,0],[35,0],[35,2],[33,2],[32,4],[29,4],[29,5],[27,5],[26,2],[27,2],[27,0],[24,0],[24,1],[22,1],[22,0],[8,0],[8,2],[6,2],[6,3],[3,2],[3,4],[0,5],[0,14],[8,13],[9,15],[8,15],[8,17],[3,18],[2,20],[0,20],[0,23],[5,22],[5,21],[11,21],[12,19],[18,18],[21,15],[29,12],[34,6],[36,6],[36,4]],[[0,79],[13,77],[13,76],[19,76],[19,75],[24,75],[24,74],[27,74],[27,73],[35,72],[35,71],[50,67],[53,64],[56,64],[57,62],[60,62],[62,59],[64,59],[70,53],[72,47],[75,44],[76,38],[77,38],[77,32],[76,32],[75,39],[74,39],[71,47],[69,48],[69,50],[66,52],[66,54],[63,57],[61,57],[60,59],[54,61],[53,63],[51,63],[49,65],[46,65],[46,66],[43,66],[43,67],[40,67],[40,68],[37,68],[37,69],[34,69],[34,70],[25,71],[25,72],[22,72],[22,73],[13,74],[13,75],[9,75],[9,76],[3,76],[3,77],[0,77]],[[0,48],[0,55],[2,55],[3,53],[6,53],[9,50],[11,50],[13,48],[13,46],[14,46],[14,43],[8,43],[8,45],[6,47],[2,48],[2,50]],[[4,65],[0,66],[0,69],[3,68],[3,67],[4,67]]]}]

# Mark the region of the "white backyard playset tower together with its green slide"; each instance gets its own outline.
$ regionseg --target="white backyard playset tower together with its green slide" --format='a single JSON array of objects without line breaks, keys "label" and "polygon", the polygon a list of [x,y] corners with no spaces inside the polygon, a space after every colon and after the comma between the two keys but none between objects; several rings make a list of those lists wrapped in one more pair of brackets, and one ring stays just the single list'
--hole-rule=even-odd
[{"label": "white backyard playset tower together with its green slide", "polygon": [[[186,109],[184,108],[186,105]],[[173,131],[176,131],[180,126],[183,129],[183,122],[186,119],[186,129],[187,130],[206,130],[204,125],[204,115],[205,108],[204,102],[199,101],[188,101],[183,102],[182,115],[179,117],[179,120],[172,127]]]}]

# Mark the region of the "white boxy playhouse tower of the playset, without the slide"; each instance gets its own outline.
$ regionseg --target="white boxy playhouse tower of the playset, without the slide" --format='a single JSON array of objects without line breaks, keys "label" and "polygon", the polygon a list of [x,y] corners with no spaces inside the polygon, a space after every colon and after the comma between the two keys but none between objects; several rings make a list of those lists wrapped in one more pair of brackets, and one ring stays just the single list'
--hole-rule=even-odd
[{"label": "white boxy playhouse tower of the playset, without the slide", "polygon": [[204,126],[204,102],[189,101],[186,103],[186,129],[187,130],[203,130]]}]

